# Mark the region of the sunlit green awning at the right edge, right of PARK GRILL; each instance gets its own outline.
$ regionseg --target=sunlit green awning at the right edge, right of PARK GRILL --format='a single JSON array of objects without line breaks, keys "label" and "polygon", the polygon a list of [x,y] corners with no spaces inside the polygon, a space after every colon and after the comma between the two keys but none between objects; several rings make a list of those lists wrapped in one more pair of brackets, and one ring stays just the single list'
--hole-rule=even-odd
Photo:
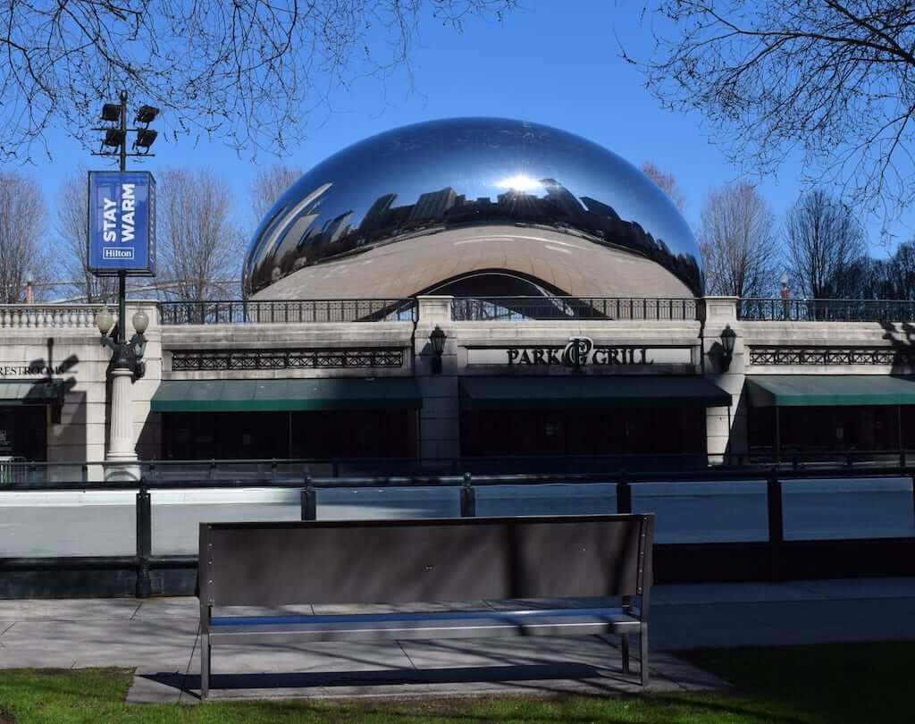
[{"label": "sunlit green awning at the right edge, right of PARK GRILL", "polygon": [[886,374],[760,374],[747,391],[754,407],[915,405],[915,377]]}]

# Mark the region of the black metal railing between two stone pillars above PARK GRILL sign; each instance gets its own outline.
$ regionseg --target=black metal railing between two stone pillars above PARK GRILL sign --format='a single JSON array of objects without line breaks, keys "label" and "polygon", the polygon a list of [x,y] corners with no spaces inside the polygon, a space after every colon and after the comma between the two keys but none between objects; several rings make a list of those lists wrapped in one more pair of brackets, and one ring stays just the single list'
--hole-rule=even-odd
[{"label": "black metal railing between two stone pillars above PARK GRILL sign", "polygon": [[455,298],[455,321],[527,319],[697,319],[695,299],[648,297],[482,297]]}]

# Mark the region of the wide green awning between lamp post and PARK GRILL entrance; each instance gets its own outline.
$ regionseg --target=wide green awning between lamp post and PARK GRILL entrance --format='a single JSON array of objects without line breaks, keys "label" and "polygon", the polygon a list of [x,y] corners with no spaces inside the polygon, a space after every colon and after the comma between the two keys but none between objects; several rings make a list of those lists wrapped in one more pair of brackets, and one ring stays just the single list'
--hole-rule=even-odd
[{"label": "wide green awning between lamp post and PARK GRILL entrance", "polygon": [[419,409],[413,377],[296,380],[166,380],[153,412]]}]

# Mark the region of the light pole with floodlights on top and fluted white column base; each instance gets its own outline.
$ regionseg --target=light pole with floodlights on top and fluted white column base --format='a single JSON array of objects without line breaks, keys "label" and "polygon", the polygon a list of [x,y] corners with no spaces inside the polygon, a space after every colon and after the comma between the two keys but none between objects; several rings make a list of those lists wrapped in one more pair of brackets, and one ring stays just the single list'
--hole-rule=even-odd
[{"label": "light pole with floodlights on top and fluted white column base", "polygon": [[[97,128],[104,132],[102,146],[93,156],[117,156],[121,172],[127,170],[127,157],[151,156],[149,147],[156,140],[156,131],[149,127],[155,120],[158,109],[143,105],[136,113],[136,123],[142,127],[127,127],[127,92],[122,91],[120,103],[105,103],[102,106],[102,121],[112,123],[110,126]],[[127,152],[127,134],[135,133],[134,152]],[[116,150],[104,150],[105,147]],[[102,346],[113,351],[108,365],[108,376],[112,381],[111,398],[111,431],[108,440],[107,462],[120,463],[106,470],[106,478],[139,478],[136,468],[136,448],[134,443],[134,420],[131,413],[131,384],[143,377],[145,362],[143,354],[146,349],[144,332],[149,326],[149,318],[140,309],[132,319],[135,334],[127,340],[127,271],[118,269],[118,315],[115,325],[111,312],[103,308],[95,318],[95,326],[102,334]]]}]

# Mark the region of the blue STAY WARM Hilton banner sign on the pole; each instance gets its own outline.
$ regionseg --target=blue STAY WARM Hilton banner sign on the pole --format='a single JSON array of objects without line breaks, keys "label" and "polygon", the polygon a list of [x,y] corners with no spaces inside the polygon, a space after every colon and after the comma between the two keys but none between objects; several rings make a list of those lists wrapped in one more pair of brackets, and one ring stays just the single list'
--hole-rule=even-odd
[{"label": "blue STAY WARM Hilton banner sign on the pole", "polygon": [[156,273],[156,179],[148,171],[89,172],[89,269]]}]

